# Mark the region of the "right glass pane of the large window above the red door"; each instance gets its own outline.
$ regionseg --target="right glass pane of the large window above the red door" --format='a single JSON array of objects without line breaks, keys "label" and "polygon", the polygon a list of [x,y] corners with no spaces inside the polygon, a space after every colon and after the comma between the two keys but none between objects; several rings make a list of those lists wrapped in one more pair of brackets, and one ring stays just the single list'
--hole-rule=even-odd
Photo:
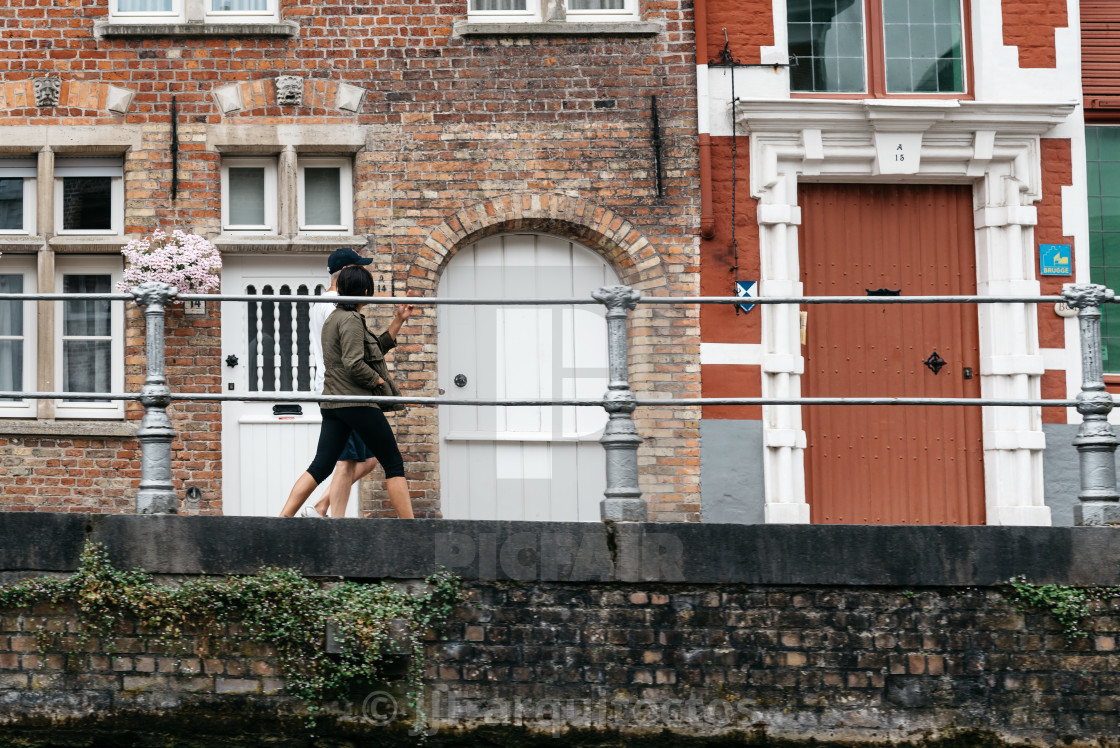
[{"label": "right glass pane of the large window above the red door", "polygon": [[960,0],[890,0],[884,3],[887,91],[964,91]]}]

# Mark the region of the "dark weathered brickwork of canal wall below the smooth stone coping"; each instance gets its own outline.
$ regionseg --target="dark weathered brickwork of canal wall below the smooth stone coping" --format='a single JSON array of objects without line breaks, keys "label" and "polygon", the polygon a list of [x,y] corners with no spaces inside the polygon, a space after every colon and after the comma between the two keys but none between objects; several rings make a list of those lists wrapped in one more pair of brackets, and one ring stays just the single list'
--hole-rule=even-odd
[{"label": "dark weathered brickwork of canal wall below the smooth stone coping", "polygon": [[[736,733],[738,745],[936,745],[965,730],[995,739],[945,745],[1104,745],[1120,729],[1118,620],[1113,598],[1070,643],[1048,615],[991,587],[473,582],[446,639],[428,645],[426,707],[436,745],[482,726],[590,729],[580,745],[650,729],[683,746]],[[67,666],[60,649],[37,649],[35,630],[72,621],[67,609],[0,610],[0,745],[78,729],[119,737],[143,719],[153,735],[197,739],[250,713],[246,732],[302,745],[284,727],[298,705],[274,654],[236,629],[226,654],[193,643],[175,657],[122,620]],[[330,707],[317,733],[392,737],[363,718],[366,695]]]}]

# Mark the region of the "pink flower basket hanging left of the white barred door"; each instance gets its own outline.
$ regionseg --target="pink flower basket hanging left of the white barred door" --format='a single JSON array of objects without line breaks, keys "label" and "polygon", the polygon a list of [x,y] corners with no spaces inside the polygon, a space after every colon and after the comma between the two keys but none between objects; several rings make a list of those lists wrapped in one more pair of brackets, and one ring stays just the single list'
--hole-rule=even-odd
[{"label": "pink flower basket hanging left of the white barred door", "polygon": [[118,291],[129,291],[140,283],[169,283],[179,293],[209,293],[221,283],[222,258],[217,247],[197,234],[160,230],[151,236],[134,239],[121,254],[128,261],[124,281]]}]

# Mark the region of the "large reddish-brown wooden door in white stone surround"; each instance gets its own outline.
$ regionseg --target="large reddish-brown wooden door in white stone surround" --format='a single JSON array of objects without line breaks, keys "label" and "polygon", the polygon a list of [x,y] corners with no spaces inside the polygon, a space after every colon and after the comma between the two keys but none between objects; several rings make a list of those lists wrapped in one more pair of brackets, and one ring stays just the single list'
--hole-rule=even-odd
[{"label": "large reddish-brown wooden door in white stone surround", "polygon": [[[808,296],[976,293],[972,190],[802,185]],[[978,398],[976,305],[811,305],[805,396]],[[936,374],[924,362],[936,352]],[[968,378],[971,370],[971,378]],[[979,408],[806,405],[813,522],[983,524]]]}]

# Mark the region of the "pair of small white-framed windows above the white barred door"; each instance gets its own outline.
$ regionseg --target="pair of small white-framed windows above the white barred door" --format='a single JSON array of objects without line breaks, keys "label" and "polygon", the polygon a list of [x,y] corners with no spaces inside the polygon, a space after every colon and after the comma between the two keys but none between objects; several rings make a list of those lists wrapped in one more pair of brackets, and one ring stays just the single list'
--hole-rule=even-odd
[{"label": "pair of small white-framed windows above the white barred door", "polygon": [[[278,223],[281,202],[274,158],[222,161],[222,231],[243,234],[352,234],[353,167],[347,158],[296,157],[296,225]],[[290,189],[290,187],[286,187]],[[286,193],[287,194],[287,193]]]}]

